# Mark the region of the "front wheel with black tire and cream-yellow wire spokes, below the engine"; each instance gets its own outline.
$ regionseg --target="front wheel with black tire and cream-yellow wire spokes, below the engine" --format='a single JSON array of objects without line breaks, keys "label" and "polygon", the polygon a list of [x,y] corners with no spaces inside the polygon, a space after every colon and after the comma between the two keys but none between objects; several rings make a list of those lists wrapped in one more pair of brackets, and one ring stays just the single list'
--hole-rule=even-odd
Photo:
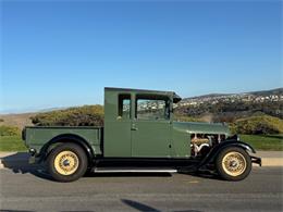
[{"label": "front wheel with black tire and cream-yellow wire spokes, below the engine", "polygon": [[223,179],[242,180],[251,171],[251,160],[244,149],[230,147],[219,153],[216,167]]}]

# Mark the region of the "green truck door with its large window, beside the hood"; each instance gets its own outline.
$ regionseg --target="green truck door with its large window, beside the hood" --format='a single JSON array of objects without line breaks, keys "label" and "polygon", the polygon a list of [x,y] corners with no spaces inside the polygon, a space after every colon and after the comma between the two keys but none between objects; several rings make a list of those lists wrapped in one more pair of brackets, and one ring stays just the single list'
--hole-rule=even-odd
[{"label": "green truck door with its large window, beside the hood", "polygon": [[132,119],[132,157],[169,158],[171,148],[170,99],[136,95]]}]

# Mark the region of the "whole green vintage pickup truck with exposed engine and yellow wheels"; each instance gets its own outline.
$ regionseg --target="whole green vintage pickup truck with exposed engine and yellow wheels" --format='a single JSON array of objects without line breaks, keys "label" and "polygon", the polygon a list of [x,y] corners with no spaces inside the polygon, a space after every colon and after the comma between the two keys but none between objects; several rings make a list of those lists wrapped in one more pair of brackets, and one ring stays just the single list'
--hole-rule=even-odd
[{"label": "whole green vintage pickup truck with exposed engine and yellow wheels", "polygon": [[89,172],[209,171],[226,180],[261,165],[253,147],[222,123],[173,121],[173,91],[104,88],[104,126],[33,126],[23,129],[30,162],[60,182]]}]

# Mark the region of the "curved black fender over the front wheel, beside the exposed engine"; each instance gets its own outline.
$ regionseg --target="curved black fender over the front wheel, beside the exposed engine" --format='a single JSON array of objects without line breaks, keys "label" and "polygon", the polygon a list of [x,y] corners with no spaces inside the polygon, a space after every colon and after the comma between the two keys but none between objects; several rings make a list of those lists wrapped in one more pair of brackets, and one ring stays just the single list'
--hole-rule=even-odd
[{"label": "curved black fender over the front wheel, beside the exposed engine", "polygon": [[222,141],[219,145],[217,145],[216,147],[213,147],[210,150],[210,152],[201,160],[198,167],[201,167],[201,166],[214,161],[214,159],[217,158],[219,152],[221,152],[223,149],[225,149],[227,147],[238,147],[238,148],[242,148],[245,151],[248,151],[250,153],[256,153],[256,150],[250,145],[248,145],[246,142],[243,142],[243,141],[239,141],[239,140],[226,140],[226,141]]}]

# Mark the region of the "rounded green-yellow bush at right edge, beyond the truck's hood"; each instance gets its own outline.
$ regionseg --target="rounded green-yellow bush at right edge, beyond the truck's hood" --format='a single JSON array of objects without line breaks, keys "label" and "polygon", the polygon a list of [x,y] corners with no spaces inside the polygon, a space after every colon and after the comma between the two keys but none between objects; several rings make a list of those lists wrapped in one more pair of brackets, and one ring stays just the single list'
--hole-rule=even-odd
[{"label": "rounded green-yellow bush at right edge, beyond the truck's hood", "polygon": [[231,130],[237,134],[282,134],[283,120],[270,115],[255,115],[239,119],[231,124]]}]

